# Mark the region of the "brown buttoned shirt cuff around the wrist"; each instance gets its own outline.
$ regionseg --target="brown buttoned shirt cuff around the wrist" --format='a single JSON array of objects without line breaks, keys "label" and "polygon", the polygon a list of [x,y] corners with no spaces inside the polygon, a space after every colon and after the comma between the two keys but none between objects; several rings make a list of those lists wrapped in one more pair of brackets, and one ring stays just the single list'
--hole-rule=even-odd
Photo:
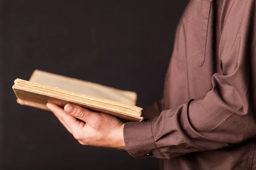
[{"label": "brown buttoned shirt cuff around the wrist", "polygon": [[124,126],[125,149],[135,158],[153,156],[163,159],[154,142],[151,119],[142,122],[126,122]]}]

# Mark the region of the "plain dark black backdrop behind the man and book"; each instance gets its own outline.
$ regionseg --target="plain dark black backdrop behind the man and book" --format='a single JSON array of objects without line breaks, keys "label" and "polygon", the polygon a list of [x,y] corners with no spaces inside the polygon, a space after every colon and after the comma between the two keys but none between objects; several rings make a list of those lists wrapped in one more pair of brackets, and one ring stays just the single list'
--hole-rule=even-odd
[{"label": "plain dark black backdrop behind the man and book", "polygon": [[0,169],[156,170],[158,160],[80,145],[58,119],[16,103],[34,69],[160,99],[188,0],[0,0]]}]

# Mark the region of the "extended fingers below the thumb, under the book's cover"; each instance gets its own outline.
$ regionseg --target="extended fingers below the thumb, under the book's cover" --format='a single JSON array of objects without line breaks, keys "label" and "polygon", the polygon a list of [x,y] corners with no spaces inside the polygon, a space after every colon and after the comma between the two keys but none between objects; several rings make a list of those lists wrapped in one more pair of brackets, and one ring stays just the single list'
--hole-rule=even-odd
[{"label": "extended fingers below the thumb, under the book's cover", "polygon": [[52,111],[52,113],[54,113],[54,115],[61,121],[67,130],[70,131],[70,133],[72,133],[73,129],[75,129],[76,126],[81,123],[55,104],[47,103],[46,106]]}]

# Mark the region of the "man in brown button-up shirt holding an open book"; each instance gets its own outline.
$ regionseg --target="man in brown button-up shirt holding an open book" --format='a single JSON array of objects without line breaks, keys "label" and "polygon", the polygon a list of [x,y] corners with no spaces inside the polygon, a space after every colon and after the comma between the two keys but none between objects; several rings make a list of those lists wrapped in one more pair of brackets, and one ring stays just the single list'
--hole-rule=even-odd
[{"label": "man in brown button-up shirt holding an open book", "polygon": [[81,144],[154,156],[163,170],[256,170],[255,7],[255,0],[189,2],[163,100],[145,110],[151,118],[143,122],[47,107]]}]

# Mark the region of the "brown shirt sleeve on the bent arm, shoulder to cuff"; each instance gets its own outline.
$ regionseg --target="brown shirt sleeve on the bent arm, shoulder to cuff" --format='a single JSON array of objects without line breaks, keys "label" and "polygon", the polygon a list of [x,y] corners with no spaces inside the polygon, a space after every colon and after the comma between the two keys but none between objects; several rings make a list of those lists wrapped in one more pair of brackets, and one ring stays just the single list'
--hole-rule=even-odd
[{"label": "brown shirt sleeve on the bent arm, shoulder to cuff", "polygon": [[223,74],[212,76],[212,89],[159,116],[125,123],[125,147],[131,156],[170,159],[216,150],[256,136],[256,92],[252,90],[256,84],[252,79],[256,74],[254,8],[253,0],[223,6],[218,48]]}]

